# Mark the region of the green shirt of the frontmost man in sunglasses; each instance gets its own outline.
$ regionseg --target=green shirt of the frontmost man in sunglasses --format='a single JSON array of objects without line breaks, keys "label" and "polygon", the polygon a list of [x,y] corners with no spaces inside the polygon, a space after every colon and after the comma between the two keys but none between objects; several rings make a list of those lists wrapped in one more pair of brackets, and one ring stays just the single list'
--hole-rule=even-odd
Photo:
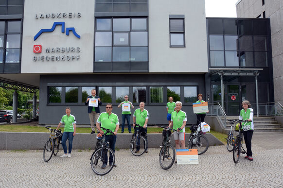
[{"label": "green shirt of the frontmost man in sunglasses", "polygon": [[[116,125],[119,125],[119,119],[118,116],[114,113],[111,113],[110,115],[107,112],[103,112],[99,115],[97,122],[101,124],[101,126],[105,129],[110,129],[111,131],[115,131]],[[104,133],[106,133],[106,130],[101,129]],[[108,135],[111,135],[108,133]]]}]

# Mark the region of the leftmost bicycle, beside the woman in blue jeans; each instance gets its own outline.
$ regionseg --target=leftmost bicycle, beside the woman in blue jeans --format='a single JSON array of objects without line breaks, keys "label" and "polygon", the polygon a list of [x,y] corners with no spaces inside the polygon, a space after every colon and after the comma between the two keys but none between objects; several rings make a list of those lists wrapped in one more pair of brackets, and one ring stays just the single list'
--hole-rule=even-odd
[{"label": "leftmost bicycle, beside the woman in blue jeans", "polygon": [[56,129],[51,129],[50,126],[46,126],[45,128],[49,129],[50,136],[43,148],[43,160],[48,162],[52,154],[54,154],[54,156],[58,154],[63,133],[61,129],[56,131]]}]

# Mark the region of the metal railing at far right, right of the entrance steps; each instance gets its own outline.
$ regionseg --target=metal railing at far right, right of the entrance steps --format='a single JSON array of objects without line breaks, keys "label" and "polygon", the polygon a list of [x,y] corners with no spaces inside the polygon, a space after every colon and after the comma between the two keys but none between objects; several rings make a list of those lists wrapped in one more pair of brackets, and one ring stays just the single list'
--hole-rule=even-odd
[{"label": "metal railing at far right, right of the entrance steps", "polygon": [[[252,103],[253,114],[257,114],[256,103]],[[283,116],[283,106],[278,103],[259,103],[259,115],[261,116]]]}]

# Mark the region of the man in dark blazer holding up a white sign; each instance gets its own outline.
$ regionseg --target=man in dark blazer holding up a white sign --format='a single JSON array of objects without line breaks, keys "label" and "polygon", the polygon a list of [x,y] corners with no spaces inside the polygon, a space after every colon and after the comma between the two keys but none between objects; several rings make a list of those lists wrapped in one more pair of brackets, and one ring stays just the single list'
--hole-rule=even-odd
[{"label": "man in dark blazer holding up a white sign", "polygon": [[85,105],[88,105],[88,116],[90,120],[90,127],[91,127],[91,133],[95,133],[95,124],[96,120],[99,117],[99,106],[101,105],[101,100],[98,96],[96,96],[96,90],[91,90],[91,96],[88,96],[87,101]]}]

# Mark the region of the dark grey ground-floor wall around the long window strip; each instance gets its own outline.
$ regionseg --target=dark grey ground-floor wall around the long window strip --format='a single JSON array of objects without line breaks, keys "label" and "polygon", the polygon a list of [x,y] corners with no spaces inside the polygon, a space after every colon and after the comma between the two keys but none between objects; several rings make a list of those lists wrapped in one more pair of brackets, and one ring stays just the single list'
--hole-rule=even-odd
[{"label": "dark grey ground-floor wall around the long window strip", "polygon": [[[48,86],[136,86],[136,84],[163,85],[163,86],[182,86],[196,85],[198,93],[205,92],[205,74],[85,74],[85,75],[41,75],[40,76],[40,103],[39,103],[39,123],[58,124],[62,116],[65,115],[66,106],[71,107],[71,114],[76,117],[77,124],[90,124],[87,113],[87,106],[83,103],[77,104],[48,104]],[[112,93],[115,93],[112,91]],[[164,90],[167,95],[167,91]],[[113,95],[113,94],[112,94]],[[182,96],[181,96],[182,98]],[[147,101],[145,109],[149,112],[149,125],[168,124],[166,103],[167,97],[164,96],[164,103],[150,104],[147,91]],[[132,96],[129,96],[132,101]],[[183,102],[183,101],[181,101]],[[105,103],[100,107],[101,112],[105,112]],[[119,103],[113,103],[113,113],[117,114],[122,122],[121,108],[117,108]],[[139,105],[134,104],[135,109]],[[192,104],[183,104],[182,110],[187,113],[187,123],[196,122]],[[132,114],[134,109],[131,109]],[[131,116],[132,123],[132,116]]]}]

